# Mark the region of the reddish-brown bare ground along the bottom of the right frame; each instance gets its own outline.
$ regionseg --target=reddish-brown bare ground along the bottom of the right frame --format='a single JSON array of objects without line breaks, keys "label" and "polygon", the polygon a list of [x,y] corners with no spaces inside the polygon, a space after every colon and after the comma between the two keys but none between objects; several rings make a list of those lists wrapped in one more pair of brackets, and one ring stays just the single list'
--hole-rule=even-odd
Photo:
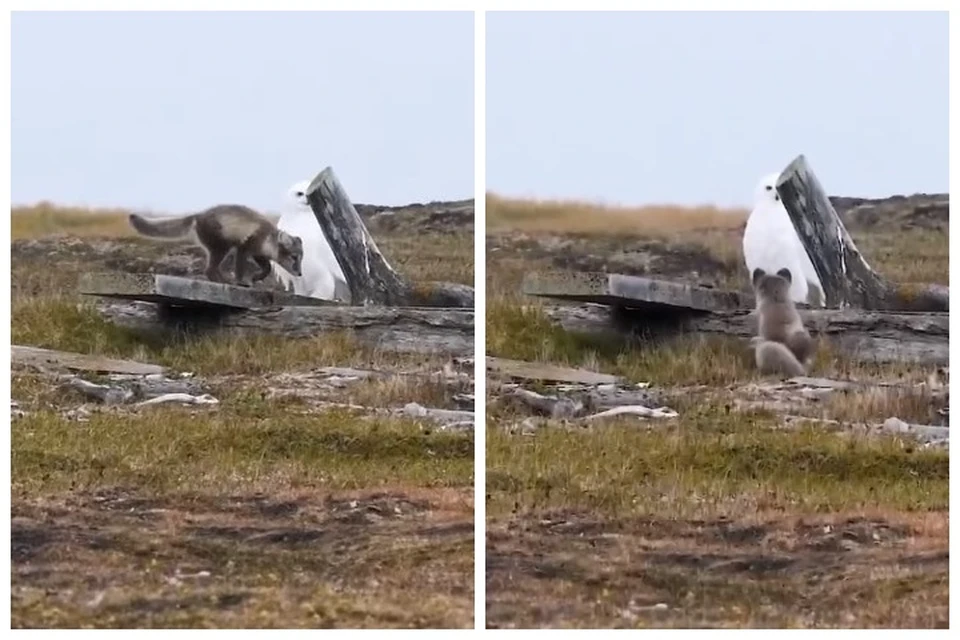
[{"label": "reddish-brown bare ground along the bottom of the right frame", "polygon": [[947,627],[945,514],[744,520],[498,522],[488,627]]}]

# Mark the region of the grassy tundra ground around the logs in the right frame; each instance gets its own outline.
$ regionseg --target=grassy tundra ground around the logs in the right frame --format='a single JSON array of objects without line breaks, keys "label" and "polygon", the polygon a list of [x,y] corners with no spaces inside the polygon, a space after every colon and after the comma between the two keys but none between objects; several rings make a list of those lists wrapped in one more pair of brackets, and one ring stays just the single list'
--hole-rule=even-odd
[{"label": "grassy tundra ground around the logs in the right frame", "polygon": [[[488,627],[945,627],[946,451],[777,428],[772,411],[737,410],[739,390],[761,382],[738,343],[600,343],[519,294],[536,269],[748,287],[745,211],[600,209],[488,196],[487,353],[649,382],[680,415],[521,429],[529,411],[488,384]],[[880,273],[948,283],[946,222],[911,220],[852,233]],[[907,385],[936,371],[857,365],[822,347],[812,375]],[[945,401],[921,384],[803,407],[937,424]]]}]

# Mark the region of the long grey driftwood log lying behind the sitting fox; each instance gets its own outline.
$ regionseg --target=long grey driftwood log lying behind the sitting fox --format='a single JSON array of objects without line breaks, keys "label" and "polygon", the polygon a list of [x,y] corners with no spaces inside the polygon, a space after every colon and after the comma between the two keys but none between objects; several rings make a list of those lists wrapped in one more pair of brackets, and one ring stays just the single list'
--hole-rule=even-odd
[{"label": "long grey driftwood log lying behind the sitting fox", "polygon": [[[657,323],[639,311],[600,305],[545,305],[543,310],[568,331],[611,339],[699,334],[740,337],[746,343],[756,335],[756,317],[746,310],[686,315]],[[813,335],[858,362],[937,366],[950,362],[946,313],[803,309],[800,315]]]}]

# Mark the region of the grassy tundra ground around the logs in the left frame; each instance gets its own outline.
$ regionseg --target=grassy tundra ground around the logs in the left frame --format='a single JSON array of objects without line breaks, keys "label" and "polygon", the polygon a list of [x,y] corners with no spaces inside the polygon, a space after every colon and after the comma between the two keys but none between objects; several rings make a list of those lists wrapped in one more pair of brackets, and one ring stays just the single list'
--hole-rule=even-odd
[{"label": "grassy tundra ground around the logs in the left frame", "polygon": [[[422,217],[368,224],[413,280],[472,284],[472,213],[433,231]],[[451,408],[472,389],[431,378],[445,358],[348,335],[137,338],[76,295],[77,274],[195,274],[197,249],[132,237],[116,211],[41,205],[11,228],[14,344],[192,372],[220,400],[83,412],[48,373],[14,368],[14,627],[472,627],[473,435],[307,393]],[[311,376],[331,365],[408,375],[331,389]]]}]

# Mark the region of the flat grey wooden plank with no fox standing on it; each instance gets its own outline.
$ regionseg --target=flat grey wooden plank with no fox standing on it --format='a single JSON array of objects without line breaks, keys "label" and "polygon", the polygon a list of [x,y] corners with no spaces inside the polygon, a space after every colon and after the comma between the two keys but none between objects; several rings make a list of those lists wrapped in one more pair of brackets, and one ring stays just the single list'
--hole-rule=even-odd
[{"label": "flat grey wooden plank with no fox standing on it", "polygon": [[734,311],[753,300],[737,291],[698,287],[619,273],[531,273],[523,292],[573,302],[662,311]]}]

